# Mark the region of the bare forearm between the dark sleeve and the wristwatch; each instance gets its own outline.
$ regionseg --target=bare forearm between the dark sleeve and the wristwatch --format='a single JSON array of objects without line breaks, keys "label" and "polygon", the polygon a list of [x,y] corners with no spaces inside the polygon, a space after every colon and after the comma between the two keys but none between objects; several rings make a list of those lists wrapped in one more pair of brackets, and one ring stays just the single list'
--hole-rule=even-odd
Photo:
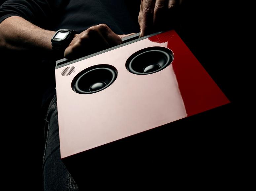
[{"label": "bare forearm between the dark sleeve and the wristwatch", "polygon": [[55,31],[44,30],[19,16],[0,23],[0,49],[52,51]]}]

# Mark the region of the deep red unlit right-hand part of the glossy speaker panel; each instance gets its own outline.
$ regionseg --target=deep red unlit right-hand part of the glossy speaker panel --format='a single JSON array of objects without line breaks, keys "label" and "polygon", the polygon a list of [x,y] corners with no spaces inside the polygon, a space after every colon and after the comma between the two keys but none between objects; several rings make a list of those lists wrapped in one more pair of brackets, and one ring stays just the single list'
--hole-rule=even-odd
[{"label": "deep red unlit right-hand part of the glossy speaker panel", "polygon": [[167,41],[167,47],[173,51],[173,70],[188,116],[230,103],[175,31],[152,36],[149,40]]}]

